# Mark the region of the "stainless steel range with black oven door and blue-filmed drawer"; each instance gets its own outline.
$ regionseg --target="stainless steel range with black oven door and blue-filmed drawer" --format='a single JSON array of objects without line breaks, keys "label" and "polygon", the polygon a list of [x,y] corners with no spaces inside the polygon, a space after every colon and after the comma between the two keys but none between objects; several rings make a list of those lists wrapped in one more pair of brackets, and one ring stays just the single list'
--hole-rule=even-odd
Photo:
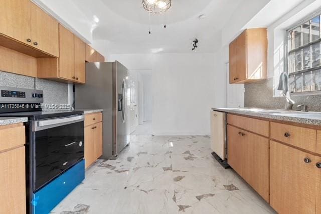
[{"label": "stainless steel range with black oven door and blue-filmed drawer", "polygon": [[49,213],[84,179],[83,111],[43,111],[41,90],[0,87],[0,91],[0,117],[28,117],[27,210]]}]

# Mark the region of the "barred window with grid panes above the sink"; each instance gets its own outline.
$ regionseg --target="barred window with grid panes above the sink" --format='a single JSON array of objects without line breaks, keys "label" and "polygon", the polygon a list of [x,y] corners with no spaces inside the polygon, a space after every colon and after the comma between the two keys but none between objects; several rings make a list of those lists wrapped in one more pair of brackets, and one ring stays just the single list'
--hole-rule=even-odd
[{"label": "barred window with grid panes above the sink", "polygon": [[291,93],[321,90],[320,15],[287,31]]}]

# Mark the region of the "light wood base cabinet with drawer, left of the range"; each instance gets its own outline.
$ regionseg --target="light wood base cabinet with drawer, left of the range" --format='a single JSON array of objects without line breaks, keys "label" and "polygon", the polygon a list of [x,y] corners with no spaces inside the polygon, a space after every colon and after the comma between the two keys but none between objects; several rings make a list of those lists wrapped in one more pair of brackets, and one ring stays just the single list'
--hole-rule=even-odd
[{"label": "light wood base cabinet with drawer, left of the range", "polygon": [[25,131],[21,130],[22,123],[0,126],[0,213],[26,213]]}]

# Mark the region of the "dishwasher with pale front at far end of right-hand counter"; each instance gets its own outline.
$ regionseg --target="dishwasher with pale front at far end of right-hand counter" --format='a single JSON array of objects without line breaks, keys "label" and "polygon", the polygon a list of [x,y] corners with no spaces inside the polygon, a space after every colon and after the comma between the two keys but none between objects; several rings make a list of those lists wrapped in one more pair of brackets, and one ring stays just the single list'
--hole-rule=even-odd
[{"label": "dishwasher with pale front at far end of right-hand counter", "polygon": [[224,168],[229,168],[227,164],[226,113],[211,111],[210,116],[212,155]]}]

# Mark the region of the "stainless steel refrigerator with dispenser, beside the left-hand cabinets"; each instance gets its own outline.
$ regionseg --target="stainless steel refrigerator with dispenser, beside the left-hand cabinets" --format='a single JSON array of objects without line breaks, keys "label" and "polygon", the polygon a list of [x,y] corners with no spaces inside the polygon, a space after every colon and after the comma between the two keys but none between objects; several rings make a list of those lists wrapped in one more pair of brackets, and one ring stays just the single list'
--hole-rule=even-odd
[{"label": "stainless steel refrigerator with dispenser, beside the left-hand cabinets", "polygon": [[118,61],[86,63],[86,84],[75,86],[75,109],[104,110],[101,159],[115,159],[130,140],[127,79],[128,69]]}]

